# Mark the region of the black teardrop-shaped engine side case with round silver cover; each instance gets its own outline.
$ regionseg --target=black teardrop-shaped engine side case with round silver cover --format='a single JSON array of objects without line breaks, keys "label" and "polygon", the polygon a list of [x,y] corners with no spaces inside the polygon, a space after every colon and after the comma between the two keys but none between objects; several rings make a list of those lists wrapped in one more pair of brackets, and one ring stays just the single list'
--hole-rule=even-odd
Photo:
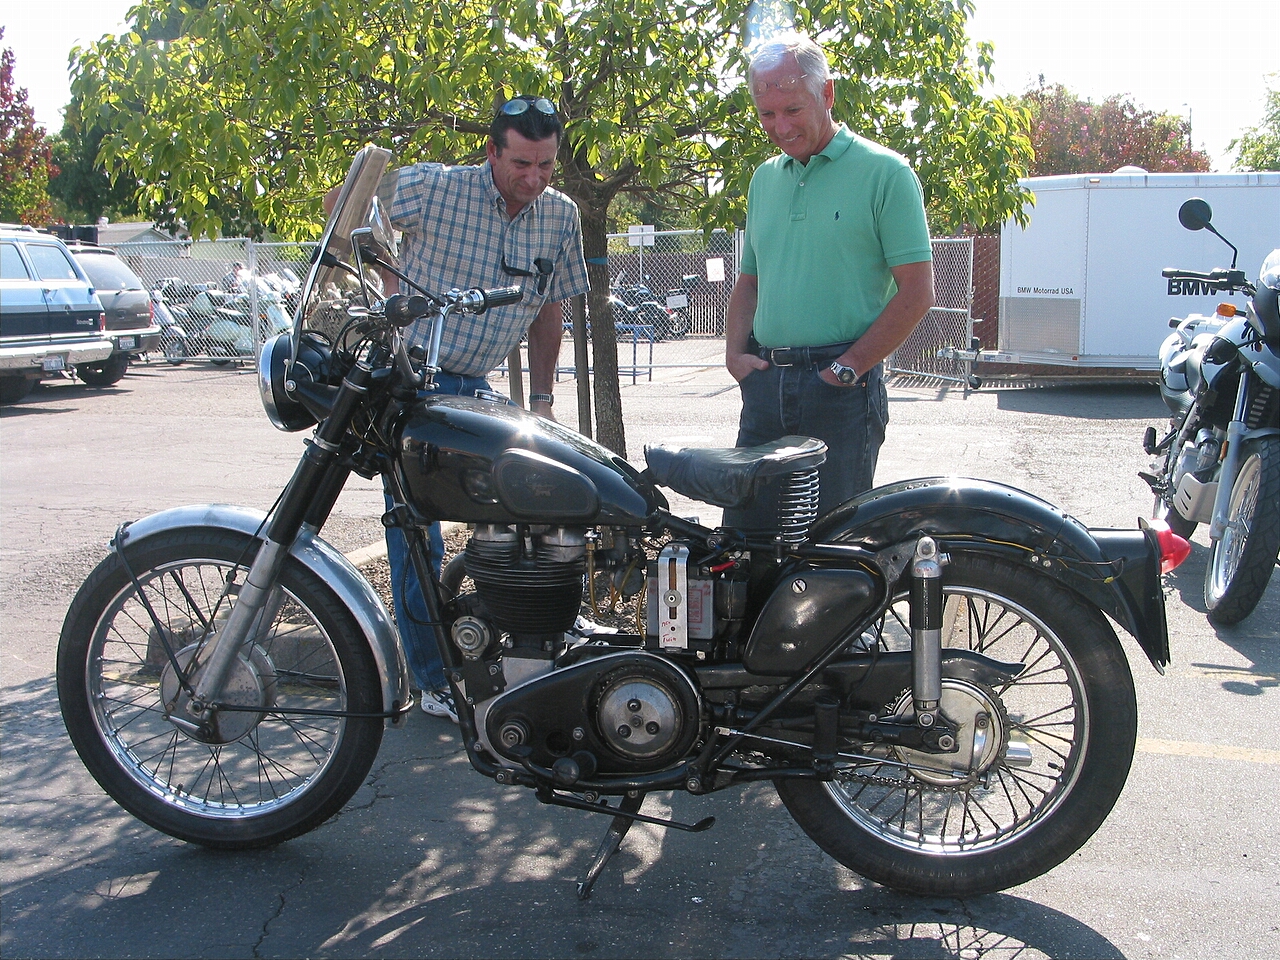
[{"label": "black teardrop-shaped engine side case with round silver cover", "polygon": [[685,671],[645,652],[604,653],[524,684],[493,701],[494,749],[549,768],[589,753],[599,773],[644,773],[684,758],[698,740],[701,696]]}]

